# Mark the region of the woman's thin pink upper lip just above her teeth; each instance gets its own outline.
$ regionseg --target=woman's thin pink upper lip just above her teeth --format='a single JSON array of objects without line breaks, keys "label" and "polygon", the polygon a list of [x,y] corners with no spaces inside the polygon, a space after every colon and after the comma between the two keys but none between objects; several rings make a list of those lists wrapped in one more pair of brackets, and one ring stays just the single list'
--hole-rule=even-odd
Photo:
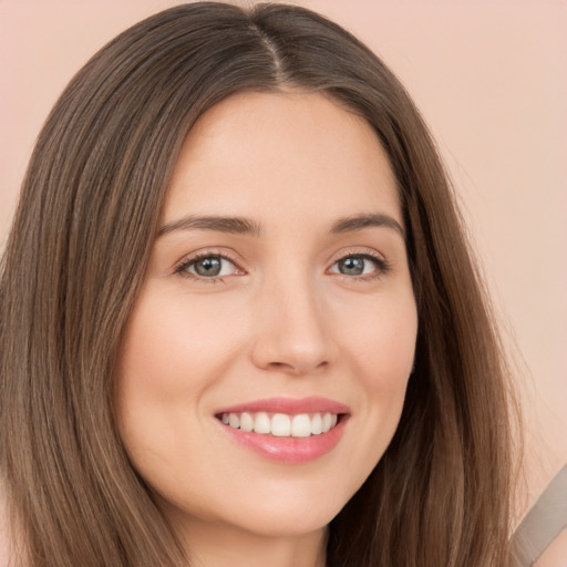
[{"label": "woman's thin pink upper lip just above her teeth", "polygon": [[217,414],[221,413],[243,413],[243,412],[267,412],[267,413],[287,413],[297,415],[299,413],[350,413],[348,405],[329,400],[327,398],[266,398],[264,400],[254,400],[227,408],[221,408]]}]

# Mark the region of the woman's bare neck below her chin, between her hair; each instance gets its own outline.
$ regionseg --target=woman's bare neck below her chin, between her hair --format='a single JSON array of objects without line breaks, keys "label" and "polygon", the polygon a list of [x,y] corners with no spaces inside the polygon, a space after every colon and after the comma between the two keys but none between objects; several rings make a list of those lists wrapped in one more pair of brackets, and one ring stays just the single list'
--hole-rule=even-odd
[{"label": "woman's bare neck below her chin, between her hair", "polygon": [[327,529],[292,536],[258,535],[218,523],[183,528],[189,558],[199,567],[324,567]]}]

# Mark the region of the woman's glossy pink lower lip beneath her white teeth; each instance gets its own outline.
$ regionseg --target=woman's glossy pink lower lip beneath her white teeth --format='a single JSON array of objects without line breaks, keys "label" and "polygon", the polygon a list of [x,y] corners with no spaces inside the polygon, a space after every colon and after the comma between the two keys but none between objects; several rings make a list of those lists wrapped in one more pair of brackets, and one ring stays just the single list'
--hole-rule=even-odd
[{"label": "woman's glossy pink lower lip beneath her white teeth", "polygon": [[347,421],[348,415],[341,415],[337,425],[327,433],[309,437],[276,437],[237,430],[220,421],[219,424],[237,443],[264,457],[280,463],[301,464],[331,452],[341,440]]}]

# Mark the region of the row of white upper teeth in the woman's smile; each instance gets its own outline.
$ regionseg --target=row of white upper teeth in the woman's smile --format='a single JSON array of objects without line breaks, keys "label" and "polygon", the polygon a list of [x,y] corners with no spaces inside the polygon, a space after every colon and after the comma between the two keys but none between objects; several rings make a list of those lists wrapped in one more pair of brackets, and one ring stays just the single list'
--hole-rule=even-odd
[{"label": "row of white upper teeth in the woman's smile", "polygon": [[288,415],[275,413],[270,419],[266,412],[258,413],[224,413],[223,423],[245,432],[256,432],[261,435],[272,434],[276,437],[309,437],[327,433],[337,425],[334,413],[299,413]]}]

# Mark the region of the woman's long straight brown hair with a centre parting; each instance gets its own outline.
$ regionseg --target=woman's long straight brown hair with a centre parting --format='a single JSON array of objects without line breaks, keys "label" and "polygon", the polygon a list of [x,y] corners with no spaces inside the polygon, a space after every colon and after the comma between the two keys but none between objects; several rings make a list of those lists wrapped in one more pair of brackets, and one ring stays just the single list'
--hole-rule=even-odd
[{"label": "woman's long straight brown hair with a centre parting", "polygon": [[385,65],[321,16],[214,2],[161,12],[103,48],[32,155],[0,280],[0,466],[23,564],[188,564],[116,433],[116,352],[187,132],[233,93],[290,86],[375,128],[398,179],[419,307],[399,429],[331,522],[328,564],[507,565],[506,368],[422,118]]}]

